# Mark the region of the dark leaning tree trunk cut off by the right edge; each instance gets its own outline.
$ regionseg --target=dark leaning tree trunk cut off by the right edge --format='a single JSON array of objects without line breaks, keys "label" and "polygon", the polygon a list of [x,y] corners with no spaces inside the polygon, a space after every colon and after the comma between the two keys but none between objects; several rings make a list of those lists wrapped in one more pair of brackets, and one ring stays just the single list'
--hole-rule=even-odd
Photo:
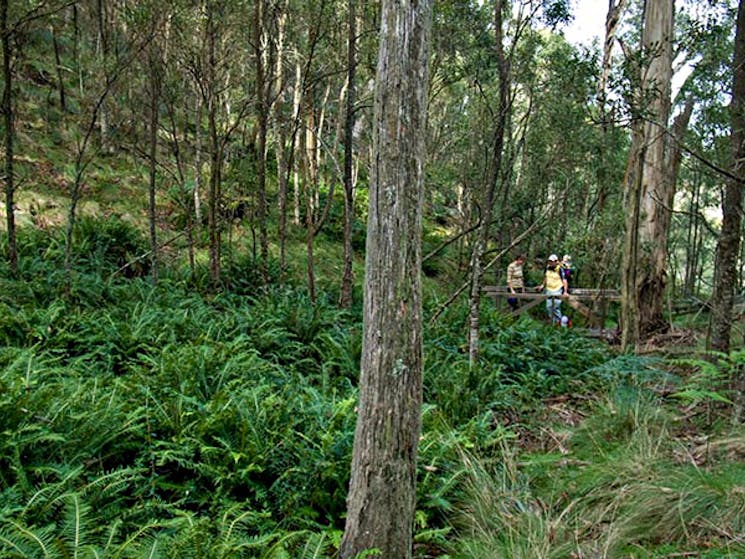
[{"label": "dark leaning tree trunk cut off by the right edge", "polygon": [[[745,0],[737,8],[735,53],[732,61],[734,79],[730,119],[732,130],[732,175],[722,201],[722,232],[717,242],[714,266],[714,294],[711,301],[710,346],[716,351],[729,351],[732,330],[732,306],[737,283],[737,258],[740,253],[742,228],[742,192],[745,179]],[[745,383],[743,383],[745,385]]]}]

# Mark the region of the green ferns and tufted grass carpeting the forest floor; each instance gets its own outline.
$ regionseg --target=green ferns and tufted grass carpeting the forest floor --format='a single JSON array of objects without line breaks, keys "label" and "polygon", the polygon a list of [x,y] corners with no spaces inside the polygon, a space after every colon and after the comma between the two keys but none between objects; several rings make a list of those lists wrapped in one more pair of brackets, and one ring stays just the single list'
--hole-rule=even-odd
[{"label": "green ferns and tufted grass carpeting the forest floor", "polygon": [[[61,238],[61,236],[60,236]],[[334,557],[360,316],[263,288],[126,277],[128,226],[24,231],[0,273],[0,557]],[[144,273],[146,270],[140,270]],[[454,307],[425,347],[418,557],[745,557],[745,434],[718,363],[615,355]],[[677,555],[676,555],[677,554]]]}]

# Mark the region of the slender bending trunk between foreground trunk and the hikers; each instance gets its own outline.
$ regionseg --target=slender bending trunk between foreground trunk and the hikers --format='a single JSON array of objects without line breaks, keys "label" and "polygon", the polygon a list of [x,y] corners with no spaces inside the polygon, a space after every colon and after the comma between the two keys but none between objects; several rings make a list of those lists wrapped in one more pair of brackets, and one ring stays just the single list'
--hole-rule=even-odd
[{"label": "slender bending trunk between foreground trunk and the hikers", "polygon": [[468,356],[471,365],[475,365],[478,361],[481,284],[484,274],[482,260],[489,240],[489,229],[494,211],[497,183],[502,168],[502,152],[510,108],[510,67],[504,53],[502,30],[504,11],[504,0],[497,0],[494,7],[494,49],[497,54],[497,71],[499,73],[499,103],[496,112],[497,121],[494,125],[491,160],[489,161],[486,174],[486,188],[481,198],[481,224],[471,254],[471,288],[468,320]]}]

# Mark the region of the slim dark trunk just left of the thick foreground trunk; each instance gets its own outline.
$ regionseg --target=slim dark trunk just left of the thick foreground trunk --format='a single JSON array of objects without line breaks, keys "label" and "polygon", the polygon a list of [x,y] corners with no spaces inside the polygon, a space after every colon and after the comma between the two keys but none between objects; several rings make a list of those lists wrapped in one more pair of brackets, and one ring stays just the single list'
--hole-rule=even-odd
[{"label": "slim dark trunk just left of the thick foreground trunk", "polygon": [[342,308],[352,306],[352,286],[354,275],[354,250],[352,232],[354,227],[354,103],[356,95],[355,79],[357,73],[357,2],[347,1],[347,110],[344,120],[344,272],[341,279]]}]

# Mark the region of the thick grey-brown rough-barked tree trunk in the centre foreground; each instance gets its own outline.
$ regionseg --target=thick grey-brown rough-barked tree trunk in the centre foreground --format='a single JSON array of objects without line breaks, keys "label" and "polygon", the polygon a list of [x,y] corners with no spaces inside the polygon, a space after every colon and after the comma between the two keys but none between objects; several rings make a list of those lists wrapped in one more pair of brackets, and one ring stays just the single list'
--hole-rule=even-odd
[{"label": "thick grey-brown rough-barked tree trunk in the centre foreground", "polygon": [[340,557],[409,559],[421,432],[421,231],[431,0],[383,0],[360,402]]}]

